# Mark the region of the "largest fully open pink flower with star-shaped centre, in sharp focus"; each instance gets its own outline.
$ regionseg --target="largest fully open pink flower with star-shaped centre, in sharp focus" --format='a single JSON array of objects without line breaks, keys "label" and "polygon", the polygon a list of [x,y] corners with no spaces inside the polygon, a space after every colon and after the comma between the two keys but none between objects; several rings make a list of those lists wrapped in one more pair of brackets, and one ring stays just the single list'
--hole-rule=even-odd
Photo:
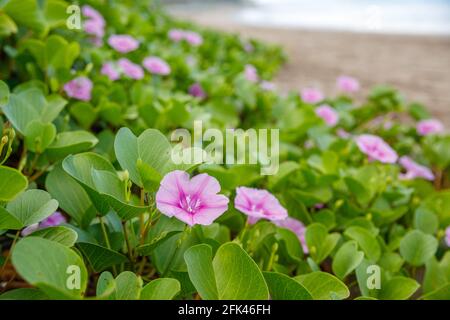
[{"label": "largest fully open pink flower with star-shaped centre, in sharp focus", "polygon": [[217,194],[219,182],[199,174],[192,179],[180,170],[169,172],[161,181],[156,193],[156,207],[168,217],[187,223],[210,225],[228,209],[228,198]]}]

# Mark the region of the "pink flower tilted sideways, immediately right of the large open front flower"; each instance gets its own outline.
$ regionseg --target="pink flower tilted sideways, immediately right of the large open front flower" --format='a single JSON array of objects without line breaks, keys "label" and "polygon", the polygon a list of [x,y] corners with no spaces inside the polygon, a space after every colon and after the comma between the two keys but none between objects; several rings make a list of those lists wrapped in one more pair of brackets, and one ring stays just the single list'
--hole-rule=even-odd
[{"label": "pink flower tilted sideways, immediately right of the large open front flower", "polygon": [[282,220],[287,217],[286,209],[267,190],[239,187],[236,189],[234,206],[254,218]]}]

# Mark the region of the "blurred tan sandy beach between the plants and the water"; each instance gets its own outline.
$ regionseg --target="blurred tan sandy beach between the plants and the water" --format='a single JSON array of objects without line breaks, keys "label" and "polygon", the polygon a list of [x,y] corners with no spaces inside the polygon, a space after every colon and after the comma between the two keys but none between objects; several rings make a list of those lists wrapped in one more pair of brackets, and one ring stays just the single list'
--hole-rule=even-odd
[{"label": "blurred tan sandy beach between the plants and the water", "polygon": [[341,74],[358,78],[364,96],[377,84],[392,85],[450,127],[450,37],[262,28],[234,19],[236,8],[170,10],[185,20],[276,43],[288,62],[275,79],[281,91],[318,86],[334,94]]}]

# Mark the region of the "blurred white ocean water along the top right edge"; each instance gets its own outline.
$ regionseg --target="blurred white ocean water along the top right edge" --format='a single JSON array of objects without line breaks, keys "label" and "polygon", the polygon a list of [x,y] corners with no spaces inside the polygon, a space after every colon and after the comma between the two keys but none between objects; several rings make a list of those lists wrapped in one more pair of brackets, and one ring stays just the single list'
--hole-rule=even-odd
[{"label": "blurred white ocean water along the top right edge", "polygon": [[[167,0],[165,0],[167,1]],[[171,0],[174,1],[174,0]],[[354,32],[450,35],[450,0],[183,0],[196,12],[234,8],[246,25]]]}]

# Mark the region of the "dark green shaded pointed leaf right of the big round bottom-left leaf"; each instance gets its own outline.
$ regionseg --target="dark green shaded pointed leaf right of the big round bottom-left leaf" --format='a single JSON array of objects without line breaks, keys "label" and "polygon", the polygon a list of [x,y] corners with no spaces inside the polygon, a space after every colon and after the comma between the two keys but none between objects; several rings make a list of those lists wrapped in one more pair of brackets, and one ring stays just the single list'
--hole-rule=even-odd
[{"label": "dark green shaded pointed leaf right of the big round bottom-left leaf", "polygon": [[94,243],[78,242],[77,247],[89,261],[95,272],[127,261],[124,255]]}]

